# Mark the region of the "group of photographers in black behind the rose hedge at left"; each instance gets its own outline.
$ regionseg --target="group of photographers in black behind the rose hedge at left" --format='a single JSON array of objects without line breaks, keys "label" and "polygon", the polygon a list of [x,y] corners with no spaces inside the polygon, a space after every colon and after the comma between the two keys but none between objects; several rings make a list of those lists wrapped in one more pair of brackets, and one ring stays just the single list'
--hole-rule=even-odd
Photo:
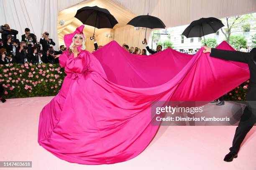
[{"label": "group of photographers in black behind the rose hedge at left", "polygon": [[54,50],[55,42],[49,38],[48,31],[43,32],[39,42],[29,28],[25,28],[21,41],[17,39],[18,31],[11,29],[8,24],[0,27],[0,33],[0,64],[56,64],[59,63],[59,55],[66,50],[64,45],[59,47],[59,51]]}]

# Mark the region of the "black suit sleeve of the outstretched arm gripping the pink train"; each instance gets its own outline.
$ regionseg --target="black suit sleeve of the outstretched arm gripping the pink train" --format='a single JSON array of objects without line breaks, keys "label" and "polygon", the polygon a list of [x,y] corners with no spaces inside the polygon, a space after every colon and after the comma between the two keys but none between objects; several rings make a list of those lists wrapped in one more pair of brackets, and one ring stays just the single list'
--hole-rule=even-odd
[{"label": "black suit sleeve of the outstretched arm gripping the pink train", "polygon": [[241,51],[219,50],[219,49],[212,48],[210,56],[221,58],[224,60],[248,63],[248,60],[250,58],[250,53],[241,52]]}]

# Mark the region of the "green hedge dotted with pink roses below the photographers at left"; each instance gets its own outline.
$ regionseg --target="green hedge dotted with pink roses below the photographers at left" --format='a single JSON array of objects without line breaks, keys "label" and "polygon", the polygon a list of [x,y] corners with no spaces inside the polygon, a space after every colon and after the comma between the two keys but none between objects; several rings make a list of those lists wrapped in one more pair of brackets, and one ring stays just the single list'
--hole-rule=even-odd
[{"label": "green hedge dotted with pink roses below the photographers at left", "polygon": [[0,65],[4,98],[53,96],[59,92],[65,73],[59,64]]}]

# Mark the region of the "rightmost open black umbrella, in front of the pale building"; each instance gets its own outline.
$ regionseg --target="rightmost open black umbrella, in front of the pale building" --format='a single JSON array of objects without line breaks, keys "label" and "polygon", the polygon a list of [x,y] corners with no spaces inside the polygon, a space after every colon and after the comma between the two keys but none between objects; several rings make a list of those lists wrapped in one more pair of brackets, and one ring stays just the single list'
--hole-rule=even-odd
[{"label": "rightmost open black umbrella, in front of the pale building", "polygon": [[182,32],[182,35],[186,36],[187,38],[204,36],[205,40],[205,35],[215,33],[222,27],[224,27],[223,23],[217,18],[200,18],[199,20],[193,21]]}]

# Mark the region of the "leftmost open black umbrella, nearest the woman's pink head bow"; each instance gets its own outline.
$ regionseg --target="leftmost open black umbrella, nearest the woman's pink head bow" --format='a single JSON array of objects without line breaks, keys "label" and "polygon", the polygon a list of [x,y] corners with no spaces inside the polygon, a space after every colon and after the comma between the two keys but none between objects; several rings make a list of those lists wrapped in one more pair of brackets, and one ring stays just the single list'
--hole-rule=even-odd
[{"label": "leftmost open black umbrella, nearest the woman's pink head bow", "polygon": [[[93,36],[95,34],[95,28],[113,28],[118,22],[110,12],[101,7],[82,7],[77,10],[75,18],[79,19],[83,24],[94,27]],[[90,37],[92,40],[93,38]]]}]

